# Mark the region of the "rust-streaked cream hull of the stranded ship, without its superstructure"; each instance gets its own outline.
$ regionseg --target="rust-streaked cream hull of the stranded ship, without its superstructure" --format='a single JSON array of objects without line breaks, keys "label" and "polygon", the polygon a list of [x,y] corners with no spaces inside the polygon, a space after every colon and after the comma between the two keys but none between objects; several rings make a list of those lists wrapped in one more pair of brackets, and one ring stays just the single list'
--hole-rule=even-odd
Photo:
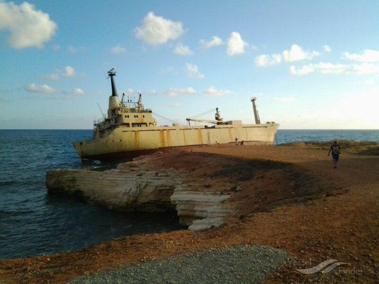
[{"label": "rust-streaked cream hull of the stranded ship, without its superstructure", "polygon": [[105,138],[77,141],[73,145],[83,160],[117,161],[156,151],[230,144],[235,142],[235,138],[244,144],[273,144],[278,126],[276,123],[140,129],[120,126]]}]

